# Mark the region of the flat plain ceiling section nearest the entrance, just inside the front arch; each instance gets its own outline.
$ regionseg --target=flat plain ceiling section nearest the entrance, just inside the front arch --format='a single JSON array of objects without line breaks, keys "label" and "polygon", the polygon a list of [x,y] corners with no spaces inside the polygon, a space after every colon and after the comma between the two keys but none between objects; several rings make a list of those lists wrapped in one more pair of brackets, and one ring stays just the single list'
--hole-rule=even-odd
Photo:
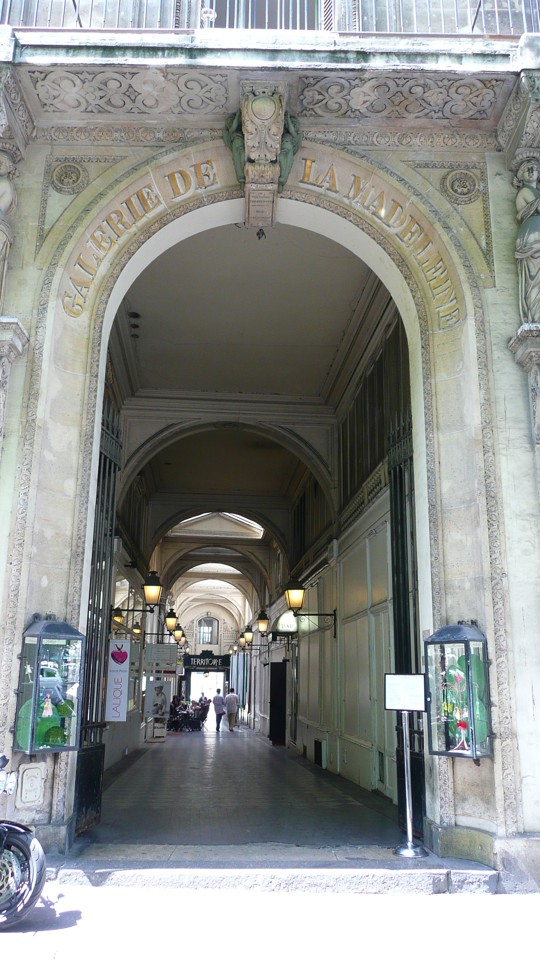
[{"label": "flat plain ceiling section nearest the entrance, just inside the front arch", "polygon": [[318,233],[199,233],[138,276],[133,389],[320,396],[370,271]]}]

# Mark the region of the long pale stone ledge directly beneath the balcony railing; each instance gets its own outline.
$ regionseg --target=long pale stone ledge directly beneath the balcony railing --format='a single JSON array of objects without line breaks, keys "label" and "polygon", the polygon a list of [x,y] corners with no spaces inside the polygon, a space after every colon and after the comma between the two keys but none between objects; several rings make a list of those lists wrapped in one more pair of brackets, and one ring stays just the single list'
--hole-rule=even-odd
[{"label": "long pale stone ledge directly beneath the balcony railing", "polygon": [[[343,70],[372,66],[383,69],[425,68],[507,72],[519,70],[524,59],[524,37],[339,34],[331,31],[260,30],[36,30],[4,26],[0,34],[2,60],[15,63],[107,64],[156,66],[189,64],[223,68],[273,70]],[[114,49],[114,59],[110,51]],[[540,66],[534,38],[528,42],[528,66]],[[538,60],[538,63],[536,62]],[[523,64],[525,65],[525,63]]]}]

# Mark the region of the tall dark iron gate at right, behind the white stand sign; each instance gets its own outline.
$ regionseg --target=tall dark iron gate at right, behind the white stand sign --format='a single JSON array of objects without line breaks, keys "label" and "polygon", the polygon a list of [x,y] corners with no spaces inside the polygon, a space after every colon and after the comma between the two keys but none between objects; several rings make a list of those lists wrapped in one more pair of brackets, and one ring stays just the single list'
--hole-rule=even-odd
[{"label": "tall dark iron gate at right, behind the white stand sign", "polygon": [[[392,596],[394,655],[396,673],[420,673],[418,627],[418,569],[414,539],[414,472],[412,466],[412,421],[396,423],[388,437],[388,479],[390,483],[390,544],[392,555]],[[401,714],[396,727],[398,742],[398,819],[405,829],[405,751]],[[422,713],[409,714],[412,824],[416,836],[424,834],[426,783]]]}]

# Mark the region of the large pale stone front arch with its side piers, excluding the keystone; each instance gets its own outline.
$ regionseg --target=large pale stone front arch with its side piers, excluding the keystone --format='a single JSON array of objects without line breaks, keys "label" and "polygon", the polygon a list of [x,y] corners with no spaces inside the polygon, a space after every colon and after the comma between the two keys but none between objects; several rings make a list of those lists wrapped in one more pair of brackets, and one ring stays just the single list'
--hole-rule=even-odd
[{"label": "large pale stone front arch with its side piers, excluding the keystone", "polygon": [[[96,209],[98,212],[94,213]],[[131,220],[126,211],[130,211]],[[120,184],[111,180],[109,195],[98,204],[86,206],[52,257],[39,294],[30,417],[26,424],[13,550],[7,652],[12,653],[16,627],[22,625],[24,618],[24,611],[18,609],[23,560],[28,557],[31,564],[35,545],[39,551],[39,543],[34,540],[39,531],[30,531],[26,525],[27,491],[37,477],[44,478],[50,469],[49,453],[54,446],[50,436],[44,434],[37,408],[47,407],[53,421],[60,420],[62,414],[67,417],[68,412],[68,439],[54,448],[56,466],[70,484],[69,508],[58,521],[63,565],[59,564],[54,586],[48,585],[47,605],[67,609],[68,618],[78,621],[85,610],[91,556],[91,504],[99,448],[95,412],[101,404],[105,353],[117,306],[134,276],[168,246],[194,232],[242,217],[243,201],[226,149],[215,142],[184,151],[175,148],[155,157],[150,168],[145,165],[143,173],[139,167]],[[507,668],[500,510],[490,433],[485,331],[479,290],[470,264],[465,263],[462,251],[457,249],[458,242],[449,238],[440,220],[430,218],[427,205],[413,197],[404,182],[393,179],[364,158],[329,147],[307,144],[299,153],[279,202],[278,219],[325,233],[356,252],[380,276],[398,306],[410,355],[418,548],[424,558],[419,585],[423,625],[430,629],[446,619],[448,597],[450,609],[456,609],[453,576],[449,574],[447,584],[443,576],[444,510],[458,488],[462,497],[470,491],[472,498],[480,497],[482,502],[481,516],[476,522],[489,557],[489,570],[483,569],[480,557],[475,558],[475,576],[480,579],[489,573],[491,577],[493,602],[486,619],[494,630],[496,651],[502,655],[501,662],[498,658],[498,669],[502,671],[500,690],[509,708],[508,694],[504,693]],[[51,244],[53,240],[54,234]],[[463,369],[467,372],[466,382],[460,380],[459,409],[470,414],[469,425],[478,427],[482,438],[480,453],[471,437],[463,444],[461,480],[453,478],[454,464],[444,444],[437,444],[437,433],[441,432],[437,391],[442,391],[442,336],[447,354],[454,351],[446,368],[447,373],[450,371],[448,376],[453,371],[455,375]],[[69,358],[63,368],[62,357]],[[435,383],[437,377],[439,382]],[[42,509],[46,487],[45,482],[41,488],[37,482],[37,512]],[[445,498],[442,504],[441,487]],[[25,606],[43,607],[40,589],[38,581],[32,585]],[[508,798],[513,796],[510,753],[503,744],[499,756]],[[449,822],[450,790],[440,778],[439,793],[441,821]],[[507,812],[511,820],[510,806]]]}]

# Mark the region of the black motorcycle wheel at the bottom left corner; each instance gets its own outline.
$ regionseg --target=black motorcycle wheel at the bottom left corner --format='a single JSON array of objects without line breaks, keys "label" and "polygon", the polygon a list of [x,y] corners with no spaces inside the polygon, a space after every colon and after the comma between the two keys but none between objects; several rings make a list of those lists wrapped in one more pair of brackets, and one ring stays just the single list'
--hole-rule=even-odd
[{"label": "black motorcycle wheel at the bottom left corner", "polygon": [[36,837],[10,831],[0,853],[0,930],[30,913],[46,874],[45,854]]}]

